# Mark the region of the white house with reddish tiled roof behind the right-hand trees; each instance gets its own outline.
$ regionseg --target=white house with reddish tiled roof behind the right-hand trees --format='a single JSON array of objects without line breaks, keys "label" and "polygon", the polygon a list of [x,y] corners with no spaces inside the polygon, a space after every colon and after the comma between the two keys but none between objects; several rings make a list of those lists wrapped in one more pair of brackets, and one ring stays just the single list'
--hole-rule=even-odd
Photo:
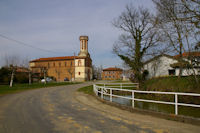
[{"label": "white house with reddish tiled roof behind the right-hand trees", "polygon": [[180,63],[180,55],[170,56],[166,54],[158,55],[144,63],[144,70],[147,70],[147,78],[153,77],[162,77],[162,76],[178,76],[180,72],[180,65],[182,65],[182,76],[193,75],[194,73],[200,75],[200,65],[194,65],[194,68],[191,68],[191,57],[194,60],[200,58],[200,54],[196,52],[183,53],[183,62]]}]

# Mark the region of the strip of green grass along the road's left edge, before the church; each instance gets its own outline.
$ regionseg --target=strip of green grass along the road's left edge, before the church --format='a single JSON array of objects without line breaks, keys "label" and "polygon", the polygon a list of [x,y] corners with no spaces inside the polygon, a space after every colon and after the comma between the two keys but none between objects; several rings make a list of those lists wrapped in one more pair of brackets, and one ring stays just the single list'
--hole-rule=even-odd
[{"label": "strip of green grass along the road's left edge, before the church", "polygon": [[45,88],[45,87],[53,87],[53,86],[61,86],[61,85],[71,85],[75,83],[70,82],[52,82],[52,83],[33,83],[31,85],[29,84],[14,84],[13,87],[9,87],[9,85],[0,85],[0,95],[6,95],[6,94],[12,94],[22,91],[27,91],[31,89],[37,89],[37,88]]}]

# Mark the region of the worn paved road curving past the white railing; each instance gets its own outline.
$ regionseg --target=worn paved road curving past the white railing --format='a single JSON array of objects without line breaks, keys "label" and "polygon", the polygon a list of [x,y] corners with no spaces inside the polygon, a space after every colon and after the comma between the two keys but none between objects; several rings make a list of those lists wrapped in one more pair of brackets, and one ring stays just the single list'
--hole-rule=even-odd
[{"label": "worn paved road curving past the white railing", "polygon": [[200,127],[123,111],[77,93],[92,83],[0,98],[0,133],[188,133]]}]

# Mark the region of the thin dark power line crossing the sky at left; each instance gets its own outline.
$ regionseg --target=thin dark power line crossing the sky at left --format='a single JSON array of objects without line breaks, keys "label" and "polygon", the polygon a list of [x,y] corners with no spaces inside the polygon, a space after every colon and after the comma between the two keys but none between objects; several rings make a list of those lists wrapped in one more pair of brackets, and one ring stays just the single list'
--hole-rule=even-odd
[{"label": "thin dark power line crossing the sky at left", "polygon": [[4,39],[7,39],[7,40],[9,40],[9,41],[16,42],[17,44],[20,44],[20,45],[23,45],[23,46],[27,46],[27,47],[30,47],[30,48],[34,48],[34,49],[37,49],[37,50],[41,50],[41,51],[45,51],[45,52],[50,52],[50,53],[54,53],[54,54],[60,53],[60,52],[55,52],[55,51],[51,51],[51,50],[46,50],[46,49],[38,48],[38,47],[35,47],[35,46],[33,46],[33,45],[24,43],[24,42],[22,42],[22,41],[15,40],[15,39],[13,39],[13,38],[7,37],[7,36],[2,35],[2,34],[0,34],[0,37],[2,37],[2,38],[4,38]]}]

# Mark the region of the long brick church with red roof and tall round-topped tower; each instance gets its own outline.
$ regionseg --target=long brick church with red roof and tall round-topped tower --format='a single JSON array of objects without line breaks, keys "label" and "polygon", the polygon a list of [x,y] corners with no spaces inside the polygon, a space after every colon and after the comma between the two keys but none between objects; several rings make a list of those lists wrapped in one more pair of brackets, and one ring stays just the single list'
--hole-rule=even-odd
[{"label": "long brick church with red roof and tall round-topped tower", "polygon": [[80,36],[78,56],[39,58],[29,62],[33,74],[62,81],[92,80],[92,59],[88,52],[88,36]]}]

